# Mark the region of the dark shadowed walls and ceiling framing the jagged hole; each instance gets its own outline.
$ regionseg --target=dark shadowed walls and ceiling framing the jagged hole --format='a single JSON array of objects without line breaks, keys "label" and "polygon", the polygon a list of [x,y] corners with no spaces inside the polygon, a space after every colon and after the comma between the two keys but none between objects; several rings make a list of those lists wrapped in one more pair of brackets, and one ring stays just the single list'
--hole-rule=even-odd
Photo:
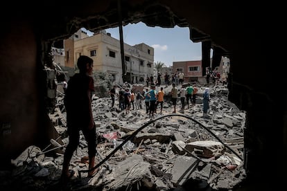
[{"label": "dark shadowed walls and ceiling framing the jagged hole", "polygon": [[241,189],[266,190],[284,182],[286,174],[278,169],[286,170],[286,91],[278,95],[269,88],[286,87],[284,70],[270,70],[273,63],[284,63],[282,58],[275,62],[277,46],[271,45],[281,37],[281,26],[273,26],[282,17],[266,14],[281,5],[261,2],[259,7],[247,1],[41,1],[33,6],[8,1],[5,8],[11,14],[1,12],[1,168],[9,169],[11,159],[30,145],[44,149],[55,138],[47,111],[55,102],[46,100],[54,84],[46,84],[43,70],[53,67],[51,45],[81,27],[97,32],[142,21],[189,27],[191,40],[202,42],[202,66],[209,66],[211,48],[213,66],[223,55],[230,58],[228,100],[246,111],[247,175]]}]

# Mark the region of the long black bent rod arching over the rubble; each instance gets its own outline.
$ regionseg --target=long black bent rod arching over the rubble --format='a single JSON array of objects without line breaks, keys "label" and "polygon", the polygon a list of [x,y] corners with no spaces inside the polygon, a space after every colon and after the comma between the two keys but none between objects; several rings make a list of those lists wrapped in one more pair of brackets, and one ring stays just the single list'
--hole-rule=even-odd
[{"label": "long black bent rod arching over the rubble", "polygon": [[[220,140],[220,138],[218,138],[218,136],[216,136],[216,134],[214,134],[212,131],[210,131],[207,127],[205,127],[205,125],[203,125],[201,122],[199,122],[198,120],[195,120],[194,118],[191,118],[189,116],[185,116],[182,114],[177,114],[177,113],[171,113],[165,116],[159,116],[158,118],[155,118],[153,120],[150,120],[148,122],[146,122],[146,124],[144,124],[143,126],[139,127],[139,129],[137,129],[136,131],[134,131],[130,136],[128,136],[128,138],[125,138],[125,140],[123,140],[123,143],[121,143],[118,147],[116,147],[112,152],[110,152],[110,154],[108,154],[100,163],[98,163],[96,166],[94,166],[93,168],[89,169],[89,170],[78,170],[78,172],[90,172],[92,170],[95,170],[97,167],[103,165],[103,163],[105,163],[105,161],[107,161],[111,156],[113,156],[119,149],[121,149],[121,147],[123,147],[123,145],[125,145],[125,143],[128,142],[128,140],[134,138],[134,136],[136,136],[139,131],[141,131],[142,129],[144,129],[145,127],[148,127],[148,125],[150,125],[151,123],[161,119],[161,118],[166,118],[166,117],[170,117],[170,116],[180,116],[183,118],[188,118],[190,120],[193,120],[194,122],[196,122],[198,125],[200,125],[200,127],[203,127],[205,130],[207,130],[209,132],[209,134],[211,134],[212,136],[214,136],[220,143],[222,143],[223,145],[225,145],[225,143],[223,143],[222,140]],[[227,147],[231,152],[233,152],[236,156],[238,156],[238,158],[241,159],[241,161],[243,161],[243,158],[236,153],[231,147],[229,147],[228,145],[225,145],[225,147]]]}]

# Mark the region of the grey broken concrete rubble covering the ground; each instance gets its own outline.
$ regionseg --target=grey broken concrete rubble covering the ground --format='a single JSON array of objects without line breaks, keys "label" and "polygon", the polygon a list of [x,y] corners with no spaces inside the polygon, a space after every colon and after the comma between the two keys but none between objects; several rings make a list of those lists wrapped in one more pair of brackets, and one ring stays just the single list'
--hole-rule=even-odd
[{"label": "grey broken concrete rubble covering the ground", "polygon": [[[119,111],[116,100],[94,97],[92,107],[98,146],[98,173],[87,177],[87,143],[73,155],[70,169],[76,173],[66,190],[232,190],[245,179],[243,131],[245,113],[227,100],[222,85],[210,88],[209,116],[202,116],[202,92],[193,107],[172,113],[171,102],[151,118],[142,109]],[[167,94],[171,86],[164,87]],[[159,90],[159,87],[156,88]],[[63,150],[67,144],[66,117],[58,96],[58,107],[49,114],[59,138],[40,149],[31,145],[18,158],[12,172],[0,172],[1,190],[59,190]],[[132,109],[132,107],[131,107]],[[146,127],[144,126],[146,125]],[[139,129],[141,128],[141,129]],[[134,134],[138,131],[137,134]],[[122,146],[122,147],[121,147]],[[116,149],[116,152],[114,152]],[[114,152],[114,153],[112,153]],[[106,158],[106,156],[109,156]],[[188,188],[187,188],[188,187]]]}]

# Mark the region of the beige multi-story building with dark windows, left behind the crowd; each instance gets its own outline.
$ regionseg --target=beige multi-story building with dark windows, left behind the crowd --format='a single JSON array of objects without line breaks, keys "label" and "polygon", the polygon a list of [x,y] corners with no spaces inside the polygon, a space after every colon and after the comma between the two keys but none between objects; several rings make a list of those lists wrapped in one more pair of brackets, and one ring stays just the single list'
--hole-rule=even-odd
[{"label": "beige multi-story building with dark windows, left behind the crowd", "polygon": [[[64,66],[76,69],[76,60],[87,55],[94,60],[94,71],[110,73],[114,82],[123,83],[120,41],[111,37],[105,30],[89,37],[78,30],[64,40]],[[154,48],[146,44],[130,46],[123,44],[125,57],[125,81],[144,82],[146,76],[153,75]]]}]

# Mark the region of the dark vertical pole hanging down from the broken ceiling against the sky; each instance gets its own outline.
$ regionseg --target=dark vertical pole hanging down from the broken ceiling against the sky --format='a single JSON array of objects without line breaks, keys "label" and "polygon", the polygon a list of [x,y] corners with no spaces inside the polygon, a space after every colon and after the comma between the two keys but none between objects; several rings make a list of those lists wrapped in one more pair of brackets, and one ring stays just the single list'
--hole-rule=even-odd
[{"label": "dark vertical pole hanging down from the broken ceiling against the sky", "polygon": [[121,45],[121,68],[123,71],[122,78],[123,83],[125,82],[125,52],[123,49],[123,21],[121,17],[121,0],[118,0],[118,16],[119,16],[119,35],[120,35],[120,45]]}]

